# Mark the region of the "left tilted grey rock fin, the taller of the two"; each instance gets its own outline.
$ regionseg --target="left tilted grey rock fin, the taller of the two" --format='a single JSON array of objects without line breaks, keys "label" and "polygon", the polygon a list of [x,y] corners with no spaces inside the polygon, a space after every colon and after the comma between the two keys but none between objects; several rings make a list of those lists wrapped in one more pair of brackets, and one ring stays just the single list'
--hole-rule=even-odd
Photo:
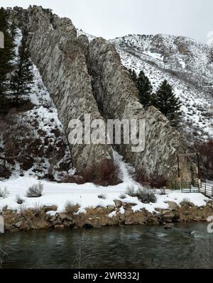
[{"label": "left tilted grey rock fin, the taller of the two", "polygon": [[[11,18],[31,36],[31,59],[53,98],[67,137],[71,119],[79,118],[84,124],[84,113],[90,113],[91,118],[102,118],[92,94],[84,44],[82,38],[77,38],[72,21],[53,16],[37,6],[14,9]],[[108,145],[70,143],[70,151],[72,165],[77,170],[113,158]]]}]

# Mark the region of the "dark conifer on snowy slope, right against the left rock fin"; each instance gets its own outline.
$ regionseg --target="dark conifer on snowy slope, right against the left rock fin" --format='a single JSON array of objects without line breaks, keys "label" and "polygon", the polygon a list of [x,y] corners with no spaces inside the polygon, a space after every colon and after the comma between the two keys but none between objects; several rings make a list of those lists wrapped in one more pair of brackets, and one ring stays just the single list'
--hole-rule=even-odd
[{"label": "dark conifer on snowy slope, right against the left rock fin", "polygon": [[30,59],[26,33],[23,33],[21,45],[18,48],[18,62],[16,71],[11,77],[11,90],[13,91],[14,101],[18,105],[21,96],[28,96],[31,90],[30,84],[33,83],[33,64]]}]

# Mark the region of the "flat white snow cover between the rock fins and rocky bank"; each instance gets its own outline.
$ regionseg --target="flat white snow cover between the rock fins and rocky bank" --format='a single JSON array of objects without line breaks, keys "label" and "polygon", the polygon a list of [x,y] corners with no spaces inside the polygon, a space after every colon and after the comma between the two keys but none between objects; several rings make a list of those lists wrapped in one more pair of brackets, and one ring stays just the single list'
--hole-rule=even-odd
[{"label": "flat white snow cover between the rock fins and rocky bank", "polygon": [[[130,202],[136,204],[133,211],[139,211],[145,208],[153,212],[156,208],[168,209],[166,201],[175,201],[180,204],[184,199],[188,199],[196,206],[203,206],[208,200],[202,194],[182,194],[180,191],[167,191],[166,195],[161,195],[159,190],[155,191],[157,202],[155,204],[142,204],[136,197],[126,195],[125,199],[120,199],[121,194],[126,193],[128,187],[138,189],[138,184],[135,182],[124,182],[116,186],[97,187],[94,184],[63,184],[56,182],[40,181],[43,186],[43,196],[40,198],[27,198],[26,191],[28,187],[38,183],[38,179],[33,177],[18,177],[16,179],[9,179],[6,182],[0,182],[0,187],[6,187],[9,190],[9,196],[6,199],[0,198],[0,210],[8,205],[9,209],[20,209],[20,205],[16,203],[16,196],[20,196],[24,200],[23,206],[32,208],[35,205],[57,205],[58,212],[65,210],[67,201],[73,204],[80,204],[80,211],[84,212],[88,206],[109,206],[114,205],[114,199],[123,202]],[[104,194],[106,199],[99,199],[99,194]],[[124,213],[124,209],[120,209]],[[111,214],[111,217],[114,214]]]}]

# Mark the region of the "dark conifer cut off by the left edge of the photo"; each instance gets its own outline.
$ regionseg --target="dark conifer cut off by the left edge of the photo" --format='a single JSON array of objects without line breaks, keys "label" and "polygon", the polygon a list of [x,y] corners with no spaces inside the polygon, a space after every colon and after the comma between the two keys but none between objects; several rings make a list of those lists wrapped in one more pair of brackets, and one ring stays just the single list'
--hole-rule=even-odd
[{"label": "dark conifer cut off by the left edge of the photo", "polygon": [[5,114],[8,111],[6,91],[9,90],[9,73],[13,70],[15,45],[9,33],[8,14],[4,8],[0,9],[0,30],[4,33],[4,48],[0,48],[0,114]]}]

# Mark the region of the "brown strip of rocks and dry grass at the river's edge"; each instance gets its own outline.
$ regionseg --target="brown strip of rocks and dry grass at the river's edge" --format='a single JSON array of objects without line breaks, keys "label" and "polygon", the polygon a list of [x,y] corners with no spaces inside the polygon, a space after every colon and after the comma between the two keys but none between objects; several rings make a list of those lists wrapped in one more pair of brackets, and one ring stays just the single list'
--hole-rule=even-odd
[{"label": "brown strip of rocks and dry grass at the river's edge", "polygon": [[213,215],[213,201],[204,206],[195,206],[190,201],[182,201],[180,205],[168,201],[167,204],[168,209],[155,207],[153,212],[144,208],[134,211],[136,204],[120,200],[114,200],[114,206],[88,207],[83,213],[79,211],[80,206],[71,204],[61,213],[56,212],[57,206],[35,206],[21,211],[4,207],[2,215],[5,232],[160,224],[172,228],[172,223],[206,222]]}]

